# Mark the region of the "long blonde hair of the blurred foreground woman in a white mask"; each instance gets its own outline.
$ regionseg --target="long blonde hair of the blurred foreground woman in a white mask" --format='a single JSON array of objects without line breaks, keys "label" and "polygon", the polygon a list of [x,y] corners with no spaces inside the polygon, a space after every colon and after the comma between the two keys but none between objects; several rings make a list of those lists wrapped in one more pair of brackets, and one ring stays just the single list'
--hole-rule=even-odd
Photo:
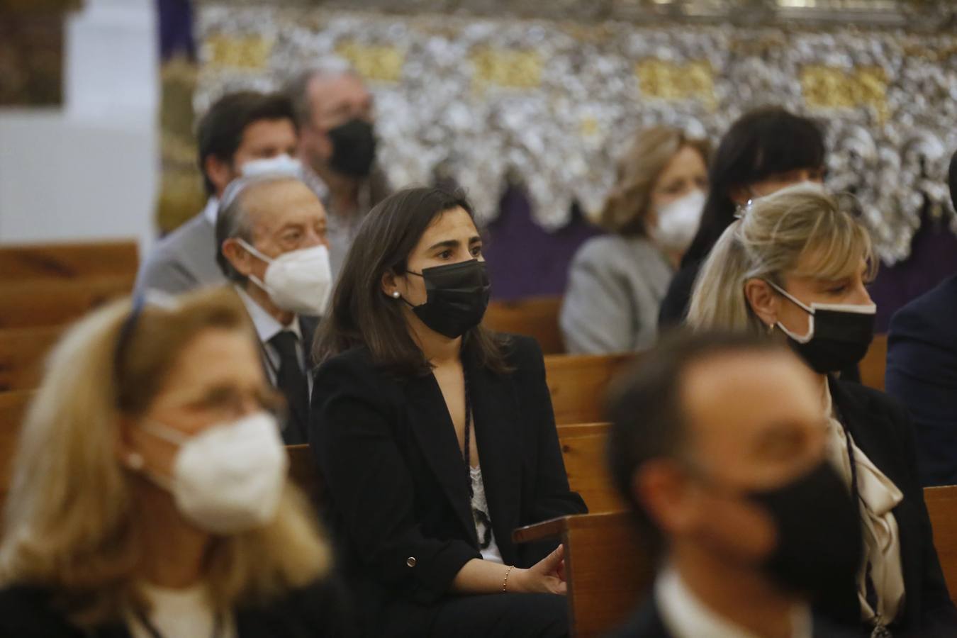
[{"label": "long blonde hair of the blurred foreground woman in a white mask", "polygon": [[[117,454],[123,417],[141,415],[183,347],[210,328],[254,333],[232,291],[146,305],[118,352],[131,313],[116,301],[56,345],[24,421],[0,543],[0,581],[50,588],[80,626],[122,618],[143,601],[133,477]],[[256,604],[321,578],[330,551],[305,498],[287,484],[265,527],[214,537],[206,557],[219,609]]]}]

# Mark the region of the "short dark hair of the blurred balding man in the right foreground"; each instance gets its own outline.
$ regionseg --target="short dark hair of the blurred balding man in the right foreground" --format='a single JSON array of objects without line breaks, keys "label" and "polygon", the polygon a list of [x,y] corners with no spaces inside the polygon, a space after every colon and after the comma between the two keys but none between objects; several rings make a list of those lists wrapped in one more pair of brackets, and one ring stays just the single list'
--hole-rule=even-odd
[{"label": "short dark hair of the blurred balding man in the right foreground", "polygon": [[677,331],[641,355],[634,369],[612,385],[606,407],[612,422],[609,469],[615,486],[649,530],[655,525],[635,499],[632,480],[648,461],[681,456],[688,427],[681,389],[688,368],[716,355],[771,352],[787,349],[744,333]]}]

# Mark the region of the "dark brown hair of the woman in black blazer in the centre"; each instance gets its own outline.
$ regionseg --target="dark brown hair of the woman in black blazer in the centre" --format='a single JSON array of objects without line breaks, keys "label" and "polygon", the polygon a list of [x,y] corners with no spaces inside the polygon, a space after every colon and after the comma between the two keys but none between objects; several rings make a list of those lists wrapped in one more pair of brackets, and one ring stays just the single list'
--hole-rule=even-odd
[{"label": "dark brown hair of the woman in black blazer in the centre", "polygon": [[[412,340],[401,299],[382,290],[382,275],[405,275],[409,255],[433,221],[442,213],[464,209],[475,219],[472,205],[460,190],[407,188],[371,209],[345,255],[328,316],[320,325],[313,359],[326,359],[354,347],[366,346],[372,361],[399,377],[429,374],[432,366]],[[507,341],[482,326],[463,335],[462,348],[479,364],[508,372],[503,348]]]}]

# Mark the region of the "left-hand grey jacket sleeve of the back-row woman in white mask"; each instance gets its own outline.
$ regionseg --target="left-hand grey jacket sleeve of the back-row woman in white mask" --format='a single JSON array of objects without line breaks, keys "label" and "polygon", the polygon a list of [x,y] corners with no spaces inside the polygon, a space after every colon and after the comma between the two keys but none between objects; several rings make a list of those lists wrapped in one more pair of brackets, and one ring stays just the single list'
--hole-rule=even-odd
[{"label": "left-hand grey jacket sleeve of the back-row woman in white mask", "polygon": [[589,242],[575,255],[559,323],[570,353],[634,350],[637,313],[627,277],[615,268],[617,255]]}]

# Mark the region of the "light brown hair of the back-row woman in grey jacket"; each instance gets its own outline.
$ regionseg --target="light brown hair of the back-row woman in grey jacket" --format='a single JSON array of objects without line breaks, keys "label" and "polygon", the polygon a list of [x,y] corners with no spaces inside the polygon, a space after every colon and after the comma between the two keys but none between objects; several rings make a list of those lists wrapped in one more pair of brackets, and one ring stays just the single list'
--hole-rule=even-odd
[{"label": "light brown hair of the back-row woman in grey jacket", "polygon": [[705,140],[690,138],[670,126],[639,132],[628,152],[618,160],[615,185],[598,213],[599,226],[624,235],[645,234],[645,217],[658,176],[685,146],[701,153],[701,160],[707,165],[711,145]]}]

